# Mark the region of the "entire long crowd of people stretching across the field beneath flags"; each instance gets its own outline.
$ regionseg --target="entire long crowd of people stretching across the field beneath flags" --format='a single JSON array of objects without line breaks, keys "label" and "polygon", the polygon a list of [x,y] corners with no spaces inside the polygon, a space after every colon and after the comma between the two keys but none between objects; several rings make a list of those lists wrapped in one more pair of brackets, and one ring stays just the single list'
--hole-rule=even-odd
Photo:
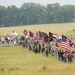
[{"label": "entire long crowd of people stretching across the field beneath flags", "polygon": [[28,50],[31,50],[36,54],[42,53],[46,57],[51,54],[53,57],[58,58],[59,61],[66,63],[75,62],[74,51],[59,50],[59,47],[53,42],[44,43],[42,40],[38,41],[34,40],[34,38],[25,36],[0,36],[0,45],[21,45],[23,48],[28,48]]}]

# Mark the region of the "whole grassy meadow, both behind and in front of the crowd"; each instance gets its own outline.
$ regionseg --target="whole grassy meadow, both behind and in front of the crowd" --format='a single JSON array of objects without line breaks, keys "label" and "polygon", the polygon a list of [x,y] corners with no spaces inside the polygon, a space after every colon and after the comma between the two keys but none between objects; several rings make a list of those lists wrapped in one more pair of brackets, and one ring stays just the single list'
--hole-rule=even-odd
[{"label": "whole grassy meadow, both behind and in front of the crowd", "polygon": [[[24,29],[74,35],[75,23],[5,27],[0,28],[0,35],[12,35],[12,30],[23,35]],[[50,54],[35,54],[22,46],[0,47],[0,75],[75,75],[75,63],[60,62]]]}]

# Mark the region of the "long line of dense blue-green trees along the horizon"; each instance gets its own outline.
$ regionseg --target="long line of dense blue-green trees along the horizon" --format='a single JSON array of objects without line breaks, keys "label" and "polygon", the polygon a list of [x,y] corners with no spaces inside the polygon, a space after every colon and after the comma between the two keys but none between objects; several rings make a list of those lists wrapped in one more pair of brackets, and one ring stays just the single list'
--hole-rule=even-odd
[{"label": "long line of dense blue-green trees along the horizon", "polygon": [[20,8],[0,6],[0,27],[74,21],[74,5],[24,3]]}]

